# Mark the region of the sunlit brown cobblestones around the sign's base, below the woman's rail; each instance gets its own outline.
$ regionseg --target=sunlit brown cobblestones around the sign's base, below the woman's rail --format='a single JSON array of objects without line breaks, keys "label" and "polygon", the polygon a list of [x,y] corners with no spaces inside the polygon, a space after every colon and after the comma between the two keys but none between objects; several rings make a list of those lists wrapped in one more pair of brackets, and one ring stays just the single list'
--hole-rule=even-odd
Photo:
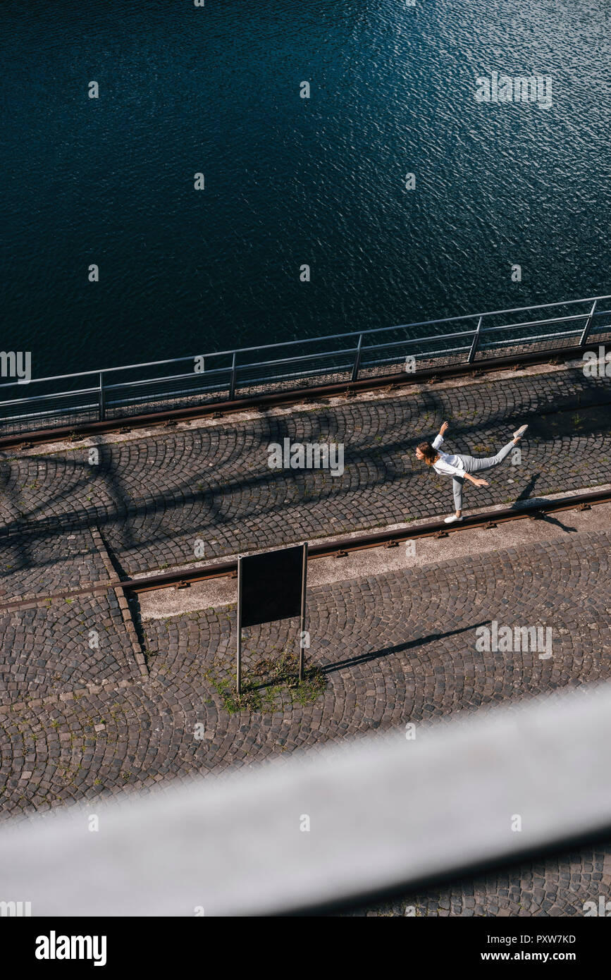
[{"label": "sunlit brown cobblestones around the sign's base, below the woman's rail", "polygon": [[[131,668],[113,593],[12,613],[3,656],[23,649],[24,658],[18,653],[17,669],[9,664],[12,686],[0,706],[0,809],[87,806],[99,794],[281,761],[297,748],[407,721],[486,711],[567,686],[587,694],[588,683],[611,675],[610,545],[611,532],[588,532],[315,587],[308,662],[319,668],[322,690],[272,686],[266,659],[295,650],[296,621],[254,627],[244,634],[245,673],[267,686],[253,695],[252,710],[233,711],[233,607],[145,621],[150,676],[142,678]],[[553,656],[477,652],[475,630],[493,619],[551,626]],[[100,635],[94,656],[86,643],[92,629]],[[525,864],[369,913],[410,906],[421,915],[580,914],[584,902],[606,894],[610,854],[599,846]]]}]

